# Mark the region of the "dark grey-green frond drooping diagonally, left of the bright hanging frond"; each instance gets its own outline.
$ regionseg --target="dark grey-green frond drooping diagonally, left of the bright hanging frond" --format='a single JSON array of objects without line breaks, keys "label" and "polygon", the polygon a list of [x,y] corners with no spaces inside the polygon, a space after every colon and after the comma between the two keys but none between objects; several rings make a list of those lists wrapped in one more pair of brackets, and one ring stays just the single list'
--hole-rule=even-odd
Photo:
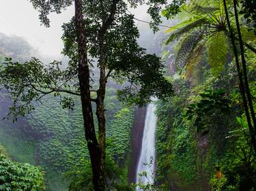
[{"label": "dark grey-green frond drooping diagonally, left of the bright hanging frond", "polygon": [[184,65],[186,65],[186,59],[188,55],[194,50],[194,48],[197,46],[201,38],[203,37],[203,31],[193,31],[185,37],[185,39],[182,41],[182,45],[180,46],[180,49],[177,52],[177,57],[175,59],[175,65],[177,65],[180,68],[183,68]]}]

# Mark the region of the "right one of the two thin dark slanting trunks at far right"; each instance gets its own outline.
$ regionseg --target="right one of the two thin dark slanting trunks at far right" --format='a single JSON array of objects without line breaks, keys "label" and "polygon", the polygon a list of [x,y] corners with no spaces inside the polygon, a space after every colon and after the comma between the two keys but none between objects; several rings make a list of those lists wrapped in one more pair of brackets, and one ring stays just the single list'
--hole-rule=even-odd
[{"label": "right one of the two thin dark slanting trunks at far right", "polygon": [[246,70],[246,60],[245,60],[245,56],[244,56],[244,42],[242,41],[242,34],[241,34],[241,30],[240,30],[240,24],[239,24],[239,19],[238,19],[238,10],[236,7],[236,0],[233,0],[233,7],[234,7],[234,11],[235,11],[235,18],[236,18],[236,29],[238,31],[238,39],[239,39],[239,44],[240,44],[240,54],[241,54],[241,60],[242,60],[242,69],[243,69],[243,73],[244,73],[244,84],[245,84],[245,90],[246,90],[246,95],[247,95],[247,99],[248,99],[248,105],[251,111],[251,117],[253,119],[253,125],[254,125],[254,132],[253,134],[255,135],[255,125],[256,125],[256,119],[255,119],[255,111],[253,108],[253,101],[251,98],[251,91],[250,91],[250,87],[248,84],[248,77],[247,77],[247,70]]}]

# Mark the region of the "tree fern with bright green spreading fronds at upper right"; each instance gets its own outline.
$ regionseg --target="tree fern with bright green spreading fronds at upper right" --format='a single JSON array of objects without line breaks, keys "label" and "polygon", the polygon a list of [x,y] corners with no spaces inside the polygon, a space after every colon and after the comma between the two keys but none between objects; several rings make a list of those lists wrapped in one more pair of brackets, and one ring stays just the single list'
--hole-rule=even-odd
[{"label": "tree fern with bright green spreading fronds at upper right", "polygon": [[[233,1],[226,1],[231,12]],[[180,39],[181,45],[176,54],[175,65],[183,69],[186,65],[197,62],[195,50],[203,44],[207,48],[208,64],[212,73],[218,75],[226,64],[229,48],[223,1],[190,0],[182,6],[182,10],[180,14],[185,14],[185,20],[166,31],[172,32],[166,44]],[[229,15],[232,16],[231,13]],[[241,31],[245,44],[246,41],[256,43],[255,34],[253,31],[248,31],[247,26],[243,26]],[[202,39],[206,41],[202,42]]]}]

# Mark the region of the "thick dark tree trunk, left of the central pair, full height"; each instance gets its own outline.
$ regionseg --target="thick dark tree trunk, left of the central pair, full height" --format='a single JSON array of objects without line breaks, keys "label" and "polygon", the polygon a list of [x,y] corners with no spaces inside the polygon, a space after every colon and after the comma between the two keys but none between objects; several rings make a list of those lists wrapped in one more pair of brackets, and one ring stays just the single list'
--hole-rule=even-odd
[{"label": "thick dark tree trunk, left of the central pair, full height", "polygon": [[81,103],[83,110],[83,121],[85,128],[85,138],[91,159],[91,168],[93,173],[93,183],[95,191],[102,191],[102,169],[100,145],[96,138],[94,127],[94,117],[91,108],[91,95],[89,86],[89,66],[87,63],[87,48],[85,40],[85,29],[83,25],[83,7],[82,0],[75,0],[75,19],[76,19],[76,33],[79,49],[79,85],[81,91]]}]

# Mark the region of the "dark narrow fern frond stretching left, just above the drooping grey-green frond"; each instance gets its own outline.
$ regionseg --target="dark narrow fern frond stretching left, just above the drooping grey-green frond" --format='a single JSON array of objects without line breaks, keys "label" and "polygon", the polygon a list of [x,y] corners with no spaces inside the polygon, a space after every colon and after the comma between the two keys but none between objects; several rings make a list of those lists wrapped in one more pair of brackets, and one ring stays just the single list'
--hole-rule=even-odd
[{"label": "dark narrow fern frond stretching left, just above the drooping grey-green frond", "polygon": [[177,29],[177,31],[174,31],[173,33],[171,33],[171,35],[169,36],[165,44],[169,44],[171,41],[174,41],[175,39],[179,39],[185,33],[188,33],[197,27],[201,27],[203,26],[203,24],[208,24],[208,21],[204,19],[196,20],[195,22],[187,24],[182,29]]}]

